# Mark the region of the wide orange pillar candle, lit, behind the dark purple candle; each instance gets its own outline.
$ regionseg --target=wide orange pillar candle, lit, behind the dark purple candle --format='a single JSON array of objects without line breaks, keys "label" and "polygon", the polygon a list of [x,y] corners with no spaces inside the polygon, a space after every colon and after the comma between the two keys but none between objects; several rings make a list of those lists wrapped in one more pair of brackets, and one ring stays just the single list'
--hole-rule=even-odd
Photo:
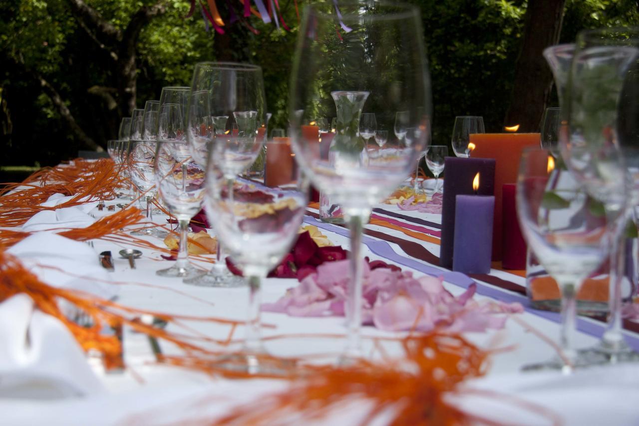
[{"label": "wide orange pillar candle, lit, behind the dark purple candle", "polygon": [[495,219],[493,222],[493,261],[502,260],[502,187],[517,182],[521,152],[539,146],[539,133],[471,134],[475,145],[472,158],[493,158],[495,164]]}]

